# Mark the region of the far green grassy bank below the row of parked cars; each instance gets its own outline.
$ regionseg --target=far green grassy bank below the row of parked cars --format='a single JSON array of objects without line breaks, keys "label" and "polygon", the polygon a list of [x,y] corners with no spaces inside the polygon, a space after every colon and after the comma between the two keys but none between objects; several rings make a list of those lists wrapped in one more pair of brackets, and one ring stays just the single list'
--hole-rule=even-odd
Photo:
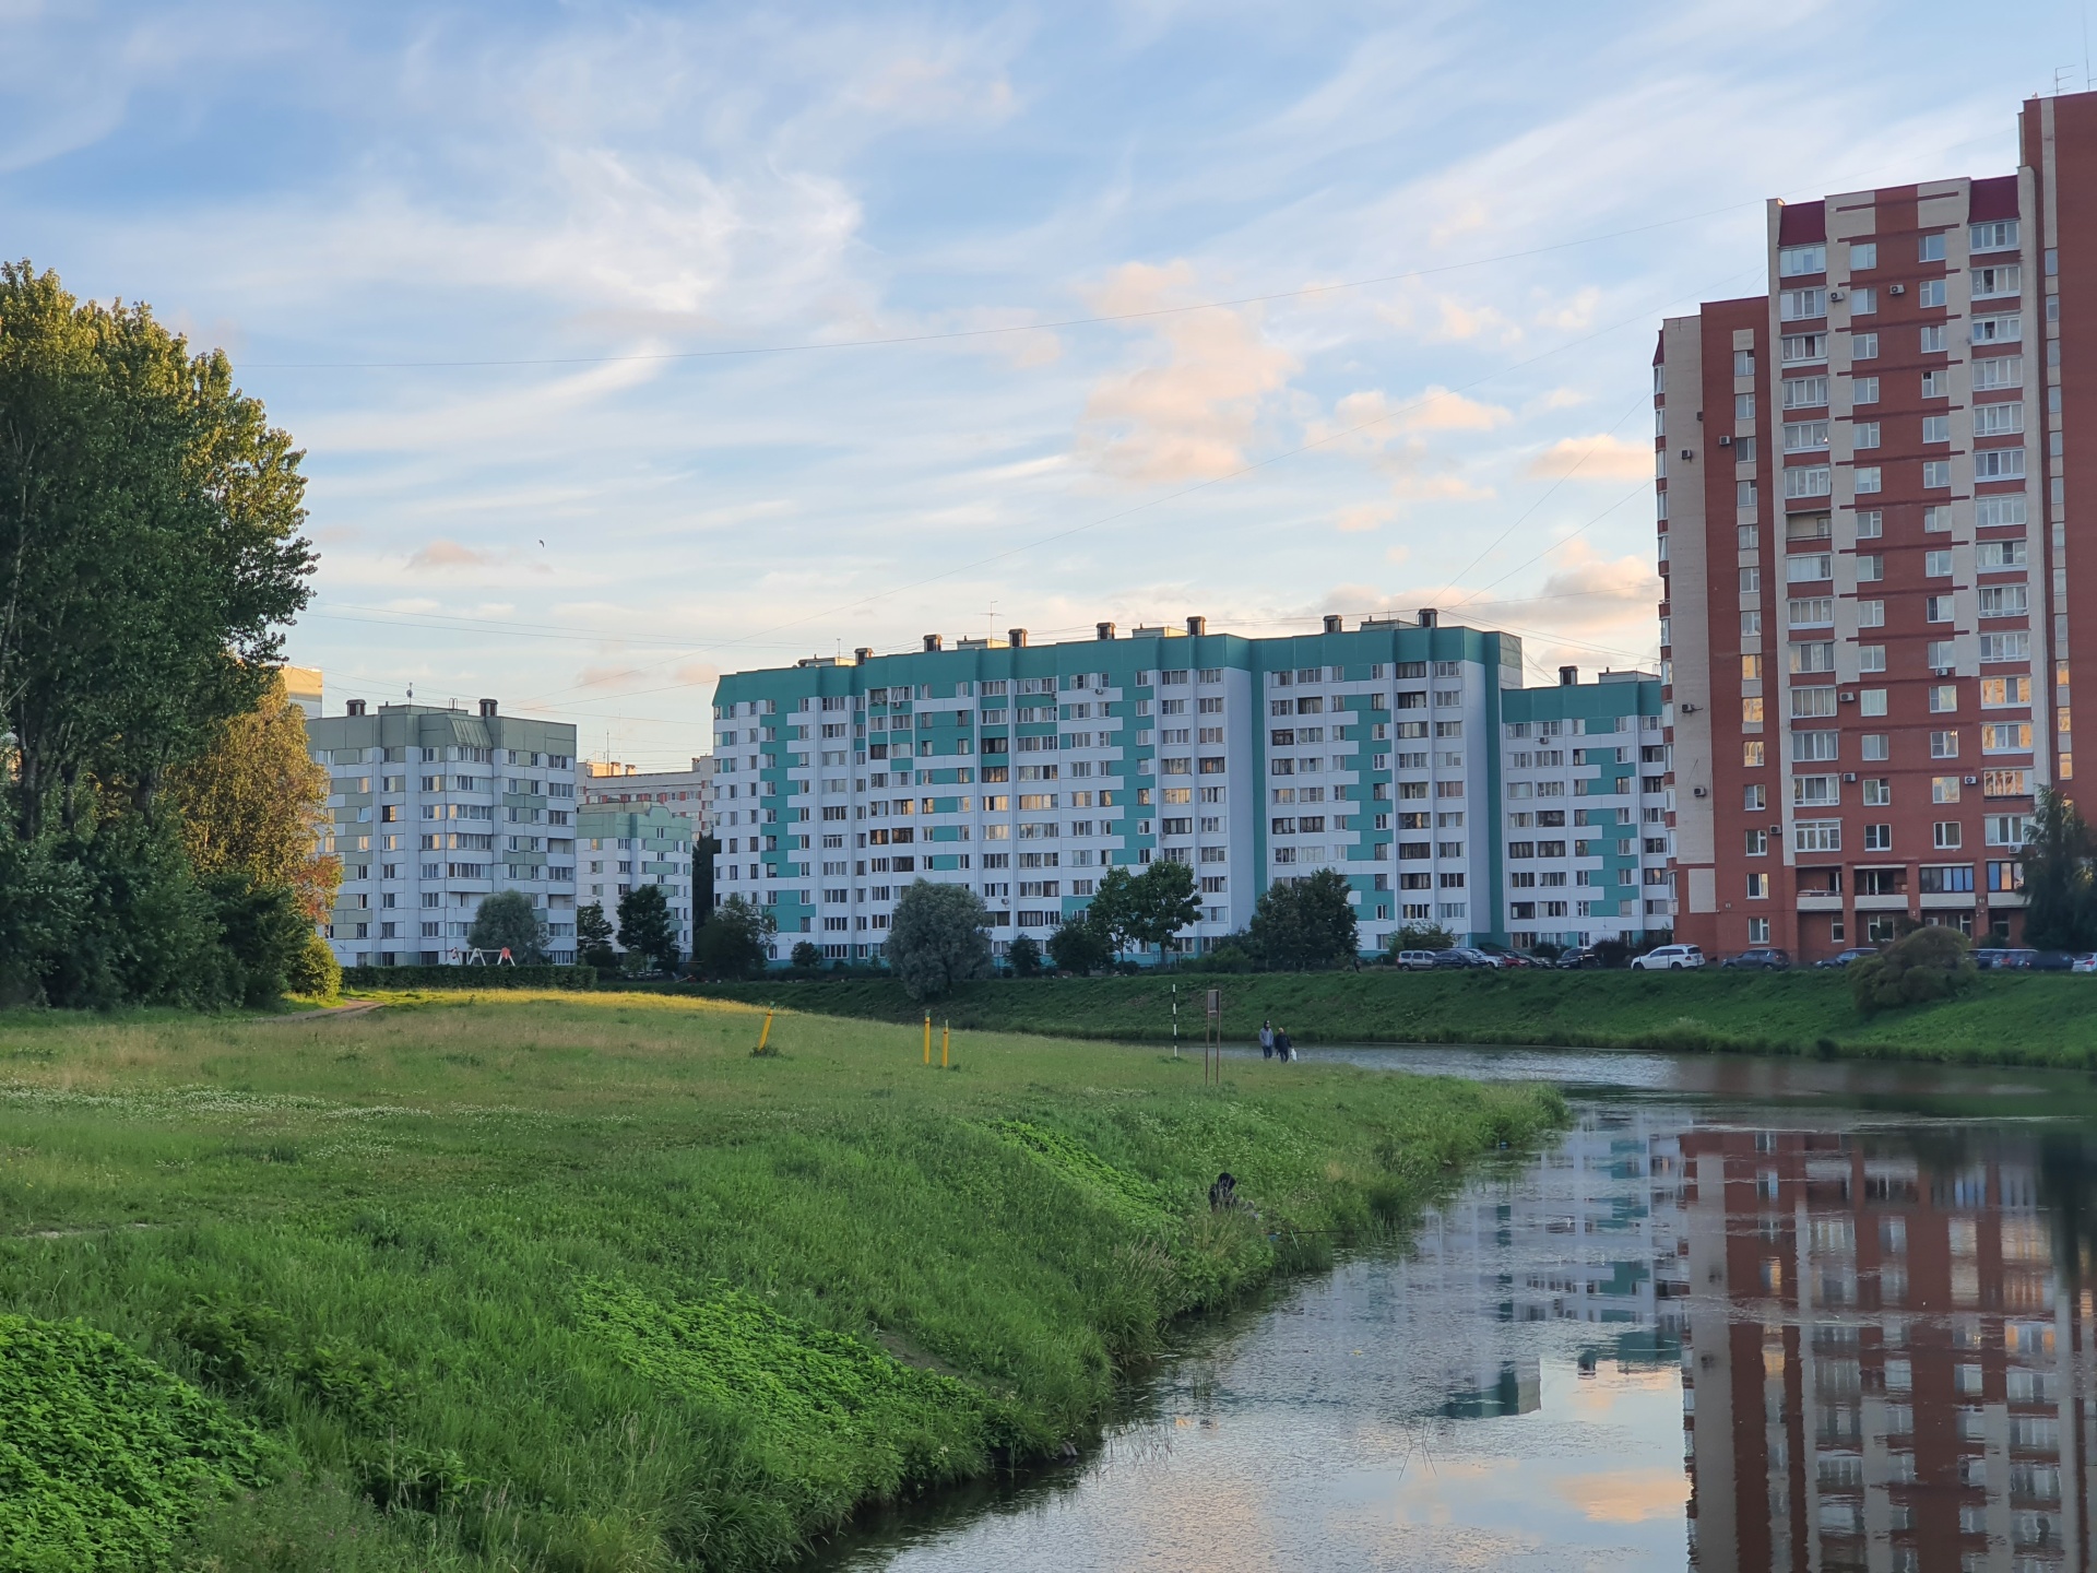
[{"label": "far green grassy bank below the row of parked cars", "polygon": [[[1172,1036],[1170,977],[1042,977],[969,984],[935,1015],[956,1028],[1160,1042]],[[1262,1019],[1298,1042],[1508,1042],[1686,1049],[2028,1065],[2097,1063],[2097,977],[1984,973],[1963,996],[1862,1017],[1835,971],[1696,973],[1455,971],[1250,973],[1179,979],[1181,1036],[1202,1032],[1202,992],[1220,988],[1225,1030]],[[921,1007],[889,979],[709,986],[707,994],[872,1021]]]}]

